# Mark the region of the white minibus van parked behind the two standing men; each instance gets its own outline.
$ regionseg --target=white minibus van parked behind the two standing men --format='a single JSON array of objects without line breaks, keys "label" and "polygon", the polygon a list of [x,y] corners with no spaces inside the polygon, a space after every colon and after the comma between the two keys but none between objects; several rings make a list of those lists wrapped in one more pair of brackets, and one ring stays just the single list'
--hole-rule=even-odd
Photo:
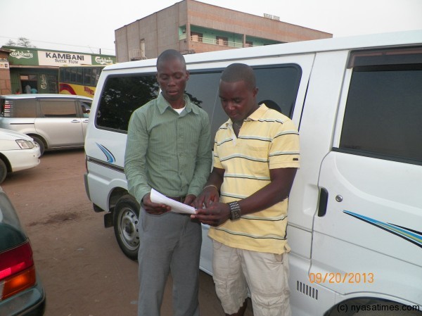
[{"label": "white minibus van parked behind the two standing men", "polygon": [[[185,58],[186,94],[207,111],[212,134],[227,120],[219,77],[235,62],[254,68],[257,101],[299,129],[301,167],[288,208],[293,315],[420,315],[422,30]],[[89,199],[133,259],[142,241],[124,148],[130,115],[158,94],[155,62],[104,68],[85,141]],[[207,229],[200,268],[212,273]]]}]

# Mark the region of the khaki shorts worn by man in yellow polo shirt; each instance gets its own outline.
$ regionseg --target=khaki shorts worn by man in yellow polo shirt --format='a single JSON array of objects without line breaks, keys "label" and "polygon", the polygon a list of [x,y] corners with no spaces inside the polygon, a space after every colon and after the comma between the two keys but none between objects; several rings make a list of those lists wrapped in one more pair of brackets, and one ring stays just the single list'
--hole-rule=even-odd
[{"label": "khaki shorts worn by man in yellow polo shirt", "polygon": [[215,291],[226,314],[234,314],[248,298],[255,316],[290,316],[288,255],[260,253],[213,241]]}]

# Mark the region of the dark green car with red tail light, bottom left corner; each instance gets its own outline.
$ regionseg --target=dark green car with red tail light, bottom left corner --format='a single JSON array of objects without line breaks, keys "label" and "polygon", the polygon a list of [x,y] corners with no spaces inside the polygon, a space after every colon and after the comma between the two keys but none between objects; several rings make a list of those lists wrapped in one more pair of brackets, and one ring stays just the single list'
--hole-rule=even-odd
[{"label": "dark green car with red tail light, bottom left corner", "polygon": [[0,315],[42,316],[45,304],[30,240],[0,188]]}]

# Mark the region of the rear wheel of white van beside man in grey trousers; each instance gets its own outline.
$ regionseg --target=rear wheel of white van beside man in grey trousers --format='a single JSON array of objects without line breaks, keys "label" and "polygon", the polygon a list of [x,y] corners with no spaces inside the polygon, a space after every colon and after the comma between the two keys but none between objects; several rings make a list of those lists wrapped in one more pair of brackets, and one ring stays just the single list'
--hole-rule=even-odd
[{"label": "rear wheel of white van beside man in grey trousers", "polygon": [[138,218],[139,203],[132,196],[122,196],[114,210],[114,231],[120,249],[132,260],[138,259]]}]

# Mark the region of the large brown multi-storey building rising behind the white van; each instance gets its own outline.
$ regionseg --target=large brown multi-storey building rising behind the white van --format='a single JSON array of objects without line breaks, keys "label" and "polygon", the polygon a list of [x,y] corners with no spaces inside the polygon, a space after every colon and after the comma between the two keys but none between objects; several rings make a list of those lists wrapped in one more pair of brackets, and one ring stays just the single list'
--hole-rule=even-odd
[{"label": "large brown multi-storey building rising behind the white van", "polygon": [[117,62],[156,58],[165,49],[202,53],[324,39],[333,34],[264,17],[183,0],[115,30]]}]

